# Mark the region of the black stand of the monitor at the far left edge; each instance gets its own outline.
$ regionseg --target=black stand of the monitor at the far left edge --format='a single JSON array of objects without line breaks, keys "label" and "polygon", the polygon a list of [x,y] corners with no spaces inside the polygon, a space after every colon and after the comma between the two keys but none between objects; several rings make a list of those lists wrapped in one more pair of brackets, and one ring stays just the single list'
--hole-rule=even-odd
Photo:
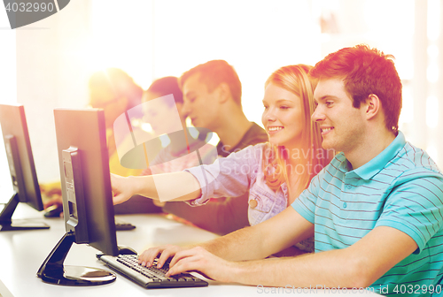
[{"label": "black stand of the monitor at the far left edge", "polygon": [[12,222],[12,214],[19,205],[19,193],[12,194],[10,201],[4,206],[0,213],[0,232],[49,229],[50,226],[44,223],[27,222],[26,219]]}]

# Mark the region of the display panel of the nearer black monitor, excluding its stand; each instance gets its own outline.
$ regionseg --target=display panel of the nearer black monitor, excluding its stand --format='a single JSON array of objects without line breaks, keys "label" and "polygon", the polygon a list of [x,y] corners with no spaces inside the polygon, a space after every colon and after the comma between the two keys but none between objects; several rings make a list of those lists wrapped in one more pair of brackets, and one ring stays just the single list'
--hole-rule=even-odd
[{"label": "display panel of the nearer black monitor, excluding its stand", "polygon": [[56,109],[54,117],[66,232],[119,255],[104,111]]}]

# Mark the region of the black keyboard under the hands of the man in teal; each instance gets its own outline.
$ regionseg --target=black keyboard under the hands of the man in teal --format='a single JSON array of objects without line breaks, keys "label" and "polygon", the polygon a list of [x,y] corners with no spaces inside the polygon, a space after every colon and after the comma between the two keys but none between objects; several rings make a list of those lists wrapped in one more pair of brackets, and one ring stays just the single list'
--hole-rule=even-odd
[{"label": "black keyboard under the hands of the man in teal", "polygon": [[169,268],[165,263],[162,268],[144,267],[138,263],[138,255],[101,255],[100,260],[105,262],[113,270],[135,281],[145,288],[174,288],[190,286],[207,286],[207,282],[192,276],[189,273],[181,273],[167,278],[165,274]]}]

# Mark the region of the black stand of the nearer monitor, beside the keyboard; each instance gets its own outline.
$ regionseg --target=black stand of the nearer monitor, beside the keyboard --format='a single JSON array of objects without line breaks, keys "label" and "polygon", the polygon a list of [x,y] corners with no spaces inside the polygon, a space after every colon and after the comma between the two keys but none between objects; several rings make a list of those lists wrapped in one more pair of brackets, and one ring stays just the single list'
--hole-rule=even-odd
[{"label": "black stand of the nearer monitor, beside the keyboard", "polygon": [[116,276],[111,271],[64,265],[66,255],[74,242],[74,232],[66,232],[44,260],[37,276],[44,282],[61,286],[98,286],[112,283]]}]

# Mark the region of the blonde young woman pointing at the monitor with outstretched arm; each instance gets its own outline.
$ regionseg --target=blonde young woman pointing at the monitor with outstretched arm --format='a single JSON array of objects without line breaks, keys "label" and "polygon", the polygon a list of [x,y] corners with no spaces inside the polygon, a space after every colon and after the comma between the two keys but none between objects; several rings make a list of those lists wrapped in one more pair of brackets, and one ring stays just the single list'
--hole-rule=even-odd
[{"label": "blonde young woman pointing at the monitor with outstretched arm", "polygon": [[[320,130],[311,121],[316,81],[307,75],[310,68],[284,66],[266,81],[262,123],[268,142],[186,171],[151,177],[113,175],[114,203],[142,194],[198,206],[211,198],[237,197],[249,190],[250,225],[274,217],[291,205],[332,157],[321,147]],[[304,240],[297,247],[312,252],[314,241]]]}]

